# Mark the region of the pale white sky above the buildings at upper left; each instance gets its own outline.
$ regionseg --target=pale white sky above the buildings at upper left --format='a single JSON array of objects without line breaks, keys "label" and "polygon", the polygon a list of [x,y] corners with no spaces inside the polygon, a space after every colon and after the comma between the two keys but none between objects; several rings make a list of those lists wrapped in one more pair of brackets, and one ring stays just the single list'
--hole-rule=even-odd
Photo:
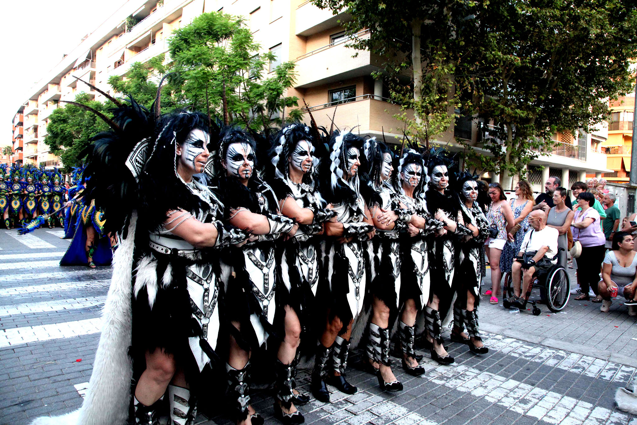
[{"label": "pale white sky above the buildings at upper left", "polygon": [[11,144],[11,121],[34,83],[125,1],[3,1],[0,146]]}]

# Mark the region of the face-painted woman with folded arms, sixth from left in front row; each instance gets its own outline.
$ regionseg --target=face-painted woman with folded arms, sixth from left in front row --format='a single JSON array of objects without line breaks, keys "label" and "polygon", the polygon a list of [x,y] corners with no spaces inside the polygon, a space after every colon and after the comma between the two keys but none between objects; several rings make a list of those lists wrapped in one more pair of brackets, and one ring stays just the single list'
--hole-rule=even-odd
[{"label": "face-painted woman with folded arms, sixth from left in front row", "polygon": [[425,373],[413,349],[416,316],[422,312],[430,294],[430,268],[427,247],[431,235],[447,233],[445,223],[434,219],[427,211],[422,198],[427,168],[424,159],[415,150],[408,150],[399,159],[394,179],[400,205],[411,214],[406,231],[401,232],[401,289],[400,303],[403,310],[398,321],[400,345],[403,351],[403,369],[413,376]]}]

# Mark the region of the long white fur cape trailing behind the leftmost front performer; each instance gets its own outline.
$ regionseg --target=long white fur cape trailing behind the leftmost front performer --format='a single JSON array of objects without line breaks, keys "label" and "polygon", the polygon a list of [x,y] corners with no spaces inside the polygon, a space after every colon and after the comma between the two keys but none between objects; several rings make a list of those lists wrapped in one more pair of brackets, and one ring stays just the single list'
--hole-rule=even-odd
[{"label": "long white fur cape trailing behind the leftmost front performer", "polygon": [[132,335],[132,254],[137,213],[128,237],[113,256],[113,277],[103,309],[103,328],[97,345],[89,389],[82,407],[56,417],[39,417],[31,425],[123,425],[131,401],[132,363],[127,350]]}]

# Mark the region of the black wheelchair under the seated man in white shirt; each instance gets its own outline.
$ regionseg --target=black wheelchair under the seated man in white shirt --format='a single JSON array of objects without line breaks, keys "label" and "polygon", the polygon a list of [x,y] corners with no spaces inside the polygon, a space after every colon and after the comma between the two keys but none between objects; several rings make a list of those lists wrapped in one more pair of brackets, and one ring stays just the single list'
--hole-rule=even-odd
[{"label": "black wheelchair under the seated man in white shirt", "polygon": [[[564,251],[564,248],[560,248],[558,250],[558,258],[561,251]],[[520,288],[521,287],[522,282],[520,282]],[[559,264],[558,260],[558,263],[552,266],[547,272],[536,273],[531,282],[529,282],[529,287],[527,288],[525,297],[520,297],[524,300],[524,309],[520,308],[520,310],[526,310],[526,304],[531,303],[531,305],[533,305],[532,313],[536,316],[541,313],[541,310],[536,305],[538,303],[538,299],[529,299],[533,289],[540,290],[541,303],[547,305],[549,310],[554,313],[563,310],[564,307],[566,307],[566,304],[568,304],[568,300],[571,296],[571,282],[568,277],[568,271],[563,264]],[[503,300],[503,305],[505,308],[512,307],[512,301],[510,301],[510,298],[514,295],[513,273],[509,273],[507,275],[503,293],[507,294],[507,298]]]}]

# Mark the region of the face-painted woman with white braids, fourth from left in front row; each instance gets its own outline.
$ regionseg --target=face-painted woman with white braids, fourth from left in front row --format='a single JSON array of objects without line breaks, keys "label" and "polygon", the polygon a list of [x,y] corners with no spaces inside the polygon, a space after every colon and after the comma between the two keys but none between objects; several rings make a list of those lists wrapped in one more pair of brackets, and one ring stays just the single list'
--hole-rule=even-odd
[{"label": "face-painted woman with white braids, fourth from left in front row", "polygon": [[[329,157],[320,162],[320,191],[332,203],[336,217],[326,223],[322,242],[323,273],[319,275],[317,297],[325,310],[317,313],[322,328],[312,372],[311,390],[319,401],[329,402],[327,384],[354,394],[357,388],[345,380],[352,323],[362,312],[365,296],[366,241],[375,229],[360,187],[363,140],[352,133],[335,134],[329,143]],[[331,370],[327,370],[331,359]]]}]

